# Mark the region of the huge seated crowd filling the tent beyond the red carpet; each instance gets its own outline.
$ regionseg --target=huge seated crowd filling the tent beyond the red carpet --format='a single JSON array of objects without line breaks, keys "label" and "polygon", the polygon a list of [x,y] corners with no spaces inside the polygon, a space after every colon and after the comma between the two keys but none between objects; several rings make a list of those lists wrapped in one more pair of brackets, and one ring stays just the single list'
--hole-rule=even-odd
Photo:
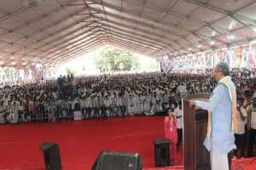
[{"label": "huge seated crowd filling the tent beyond the red carpet", "polygon": [[[238,92],[253,87],[252,72],[234,70]],[[210,93],[211,71],[200,74],[143,73],[99,77],[59,77],[0,89],[0,122],[55,122],[154,114],[175,109],[183,95]],[[256,87],[255,87],[256,90]]]}]

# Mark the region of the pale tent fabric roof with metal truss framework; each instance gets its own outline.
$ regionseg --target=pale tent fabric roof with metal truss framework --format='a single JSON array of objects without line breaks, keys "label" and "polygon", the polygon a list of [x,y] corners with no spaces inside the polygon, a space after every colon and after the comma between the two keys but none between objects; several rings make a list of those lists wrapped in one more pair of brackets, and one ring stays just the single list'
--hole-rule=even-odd
[{"label": "pale tent fabric roof with metal truss framework", "polygon": [[256,0],[1,0],[0,65],[61,64],[111,44],[191,54],[256,37]]}]

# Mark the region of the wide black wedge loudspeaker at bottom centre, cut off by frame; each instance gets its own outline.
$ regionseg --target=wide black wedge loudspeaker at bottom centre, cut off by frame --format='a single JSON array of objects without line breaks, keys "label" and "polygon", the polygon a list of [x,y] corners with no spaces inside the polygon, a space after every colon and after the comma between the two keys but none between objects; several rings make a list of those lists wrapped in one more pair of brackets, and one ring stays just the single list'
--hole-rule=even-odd
[{"label": "wide black wedge loudspeaker at bottom centre, cut off by frame", "polygon": [[102,150],[91,170],[142,170],[143,161],[137,153]]}]

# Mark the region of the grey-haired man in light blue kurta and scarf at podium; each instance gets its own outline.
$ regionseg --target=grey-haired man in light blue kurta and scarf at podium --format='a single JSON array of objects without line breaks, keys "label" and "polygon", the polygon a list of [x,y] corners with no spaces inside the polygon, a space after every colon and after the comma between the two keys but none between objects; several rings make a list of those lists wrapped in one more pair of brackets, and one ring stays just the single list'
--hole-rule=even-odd
[{"label": "grey-haired man in light blue kurta and scarf at podium", "polygon": [[213,76],[218,82],[209,102],[190,101],[190,105],[208,111],[207,138],[204,145],[210,151],[212,170],[229,170],[228,153],[236,149],[233,120],[236,113],[236,86],[231,81],[230,68],[219,62]]}]

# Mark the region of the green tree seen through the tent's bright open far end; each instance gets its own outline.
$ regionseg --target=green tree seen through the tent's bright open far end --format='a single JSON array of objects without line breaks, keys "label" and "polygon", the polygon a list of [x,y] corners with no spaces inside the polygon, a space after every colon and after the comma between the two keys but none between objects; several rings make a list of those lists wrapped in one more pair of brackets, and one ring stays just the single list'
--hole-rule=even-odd
[{"label": "green tree seen through the tent's bright open far end", "polygon": [[103,72],[131,71],[132,69],[141,68],[137,55],[113,47],[102,49],[96,60],[96,66]]}]

